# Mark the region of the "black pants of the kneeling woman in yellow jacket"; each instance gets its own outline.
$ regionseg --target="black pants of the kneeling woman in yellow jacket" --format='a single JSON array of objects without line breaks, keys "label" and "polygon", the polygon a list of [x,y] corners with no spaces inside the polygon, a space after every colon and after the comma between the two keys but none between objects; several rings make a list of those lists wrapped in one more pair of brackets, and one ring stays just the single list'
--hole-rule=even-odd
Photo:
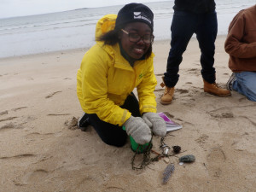
[{"label": "black pants of the kneeling woman in yellow jacket", "polygon": [[[136,96],[131,92],[130,96],[127,96],[125,103],[120,108],[125,108],[131,112],[134,117],[140,117],[139,105]],[[122,126],[109,124],[105,121],[102,121],[98,118],[96,113],[87,113],[89,117],[89,123],[92,125],[99,135],[102,138],[104,143],[108,145],[113,145],[116,147],[122,147],[127,141],[126,131],[122,129]]]}]

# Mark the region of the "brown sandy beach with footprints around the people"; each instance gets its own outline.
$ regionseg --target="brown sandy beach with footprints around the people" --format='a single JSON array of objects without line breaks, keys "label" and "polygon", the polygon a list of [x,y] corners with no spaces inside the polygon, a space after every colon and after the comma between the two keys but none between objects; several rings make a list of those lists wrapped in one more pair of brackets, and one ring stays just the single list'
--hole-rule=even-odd
[{"label": "brown sandy beach with footprints around the people", "polygon": [[[225,36],[216,41],[217,83],[230,78]],[[0,60],[0,192],[180,192],[256,189],[256,103],[232,91],[217,97],[203,91],[200,49],[191,39],[183,55],[171,105],[160,104],[170,40],[154,42],[158,112],[183,125],[165,143],[182,153],[133,170],[129,139],[123,148],[103,143],[89,127],[72,125],[82,114],[76,74],[86,49]],[[153,138],[160,150],[160,137]],[[194,163],[178,158],[194,154]],[[151,154],[154,157],[155,154]],[[139,158],[142,157],[138,155]],[[163,184],[168,164],[175,171]]]}]

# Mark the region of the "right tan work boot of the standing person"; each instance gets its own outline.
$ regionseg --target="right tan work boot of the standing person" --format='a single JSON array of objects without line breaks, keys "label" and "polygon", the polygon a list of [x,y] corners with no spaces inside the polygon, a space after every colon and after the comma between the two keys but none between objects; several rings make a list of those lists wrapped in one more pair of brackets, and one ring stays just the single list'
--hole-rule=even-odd
[{"label": "right tan work boot of the standing person", "polygon": [[204,91],[210,93],[214,96],[231,96],[230,90],[219,88],[216,83],[209,84],[207,81],[204,81]]}]

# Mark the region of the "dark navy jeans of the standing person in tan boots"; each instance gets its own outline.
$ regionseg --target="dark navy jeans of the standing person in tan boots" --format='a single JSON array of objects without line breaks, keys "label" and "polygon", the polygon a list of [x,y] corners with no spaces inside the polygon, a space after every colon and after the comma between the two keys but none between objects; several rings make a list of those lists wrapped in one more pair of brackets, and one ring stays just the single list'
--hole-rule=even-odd
[{"label": "dark navy jeans of the standing person in tan boots", "polygon": [[201,49],[201,75],[208,83],[215,83],[215,39],[218,32],[216,12],[193,14],[175,11],[172,19],[172,40],[165,73],[167,87],[177,84],[179,64],[183,60],[189,40],[195,33]]}]

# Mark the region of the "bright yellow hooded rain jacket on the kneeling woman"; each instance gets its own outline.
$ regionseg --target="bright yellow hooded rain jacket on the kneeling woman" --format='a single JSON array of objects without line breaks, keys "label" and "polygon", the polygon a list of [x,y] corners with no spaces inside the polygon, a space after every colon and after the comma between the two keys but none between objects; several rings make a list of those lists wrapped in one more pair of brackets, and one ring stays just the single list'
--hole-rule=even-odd
[{"label": "bright yellow hooded rain jacket on the kneeling woman", "polygon": [[[96,37],[113,30],[116,15],[105,15],[96,24]],[[96,113],[99,119],[123,125],[131,117],[119,106],[137,87],[141,113],[156,112],[154,87],[157,84],[153,67],[154,54],[135,61],[131,67],[121,55],[119,44],[104,45],[97,41],[84,55],[77,74],[77,94],[85,113]]]}]

